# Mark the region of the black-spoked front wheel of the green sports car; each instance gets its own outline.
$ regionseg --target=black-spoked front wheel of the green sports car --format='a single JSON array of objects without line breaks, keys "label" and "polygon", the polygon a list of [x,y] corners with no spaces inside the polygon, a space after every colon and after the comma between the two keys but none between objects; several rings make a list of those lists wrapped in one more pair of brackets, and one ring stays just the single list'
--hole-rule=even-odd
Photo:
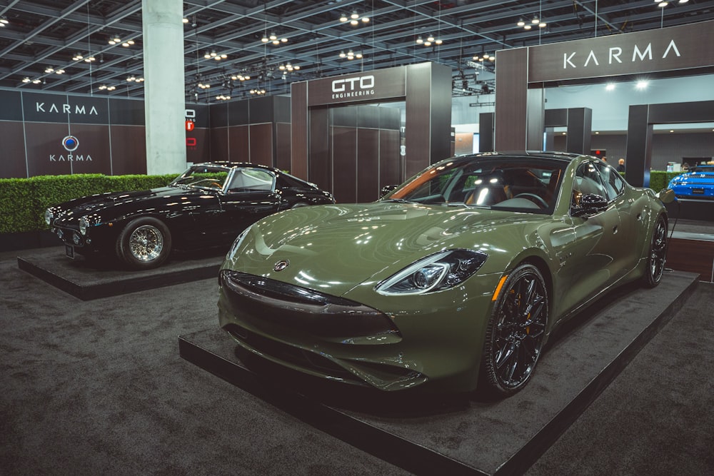
[{"label": "black-spoked front wheel of the green sports car", "polygon": [[507,397],[526,386],[545,343],[548,293],[538,268],[519,265],[506,280],[486,328],[479,391]]}]

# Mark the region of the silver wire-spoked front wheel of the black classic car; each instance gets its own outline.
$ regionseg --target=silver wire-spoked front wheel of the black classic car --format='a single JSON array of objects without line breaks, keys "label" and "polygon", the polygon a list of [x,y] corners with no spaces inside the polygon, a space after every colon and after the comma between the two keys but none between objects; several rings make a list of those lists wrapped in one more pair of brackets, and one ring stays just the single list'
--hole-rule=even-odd
[{"label": "silver wire-spoked front wheel of the black classic car", "polygon": [[171,253],[171,233],[157,218],[135,218],[116,238],[116,255],[132,269],[160,266]]}]

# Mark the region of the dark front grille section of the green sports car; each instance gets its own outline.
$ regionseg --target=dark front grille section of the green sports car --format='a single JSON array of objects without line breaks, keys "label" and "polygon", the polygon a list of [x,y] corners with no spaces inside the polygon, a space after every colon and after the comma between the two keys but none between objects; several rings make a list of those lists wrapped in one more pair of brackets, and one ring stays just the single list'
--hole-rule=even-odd
[{"label": "dark front grille section of the green sports car", "polygon": [[222,270],[220,280],[243,318],[328,338],[401,337],[391,318],[352,300],[232,270]]}]

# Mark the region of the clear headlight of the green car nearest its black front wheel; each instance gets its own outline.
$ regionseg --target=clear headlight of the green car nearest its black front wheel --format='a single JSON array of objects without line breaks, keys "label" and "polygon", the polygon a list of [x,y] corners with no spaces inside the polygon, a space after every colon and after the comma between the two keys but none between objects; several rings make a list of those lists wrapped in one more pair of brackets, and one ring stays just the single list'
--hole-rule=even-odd
[{"label": "clear headlight of the green car nearest its black front wheel", "polygon": [[376,285],[383,295],[433,293],[467,280],[488,255],[472,250],[448,250],[427,256]]}]

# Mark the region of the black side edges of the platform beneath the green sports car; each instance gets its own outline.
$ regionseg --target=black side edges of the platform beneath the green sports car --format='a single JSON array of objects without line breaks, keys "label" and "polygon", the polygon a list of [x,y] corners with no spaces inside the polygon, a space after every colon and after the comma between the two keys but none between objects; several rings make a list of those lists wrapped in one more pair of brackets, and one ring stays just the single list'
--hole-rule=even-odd
[{"label": "black side edges of the platform beneath the green sports car", "polygon": [[[438,472],[448,475],[518,475],[531,467],[578,419],[590,403],[607,388],[610,382],[627,367],[640,350],[670,321],[697,284],[698,281],[692,275],[691,282],[618,353],[616,358],[605,365],[605,368],[600,370],[598,375],[590,380],[590,383],[585,385],[573,400],[521,447],[521,450],[511,455],[492,473],[406,440],[300,393],[279,388],[278,385],[266,385],[266,382],[241,363],[228,360],[211,350],[201,348],[200,345],[191,342],[190,336],[178,336],[178,351],[181,358],[199,368],[291,413],[319,430],[405,470],[416,474],[436,474]],[[216,332],[221,331],[216,330]],[[528,388],[524,391],[528,391]]]}]

